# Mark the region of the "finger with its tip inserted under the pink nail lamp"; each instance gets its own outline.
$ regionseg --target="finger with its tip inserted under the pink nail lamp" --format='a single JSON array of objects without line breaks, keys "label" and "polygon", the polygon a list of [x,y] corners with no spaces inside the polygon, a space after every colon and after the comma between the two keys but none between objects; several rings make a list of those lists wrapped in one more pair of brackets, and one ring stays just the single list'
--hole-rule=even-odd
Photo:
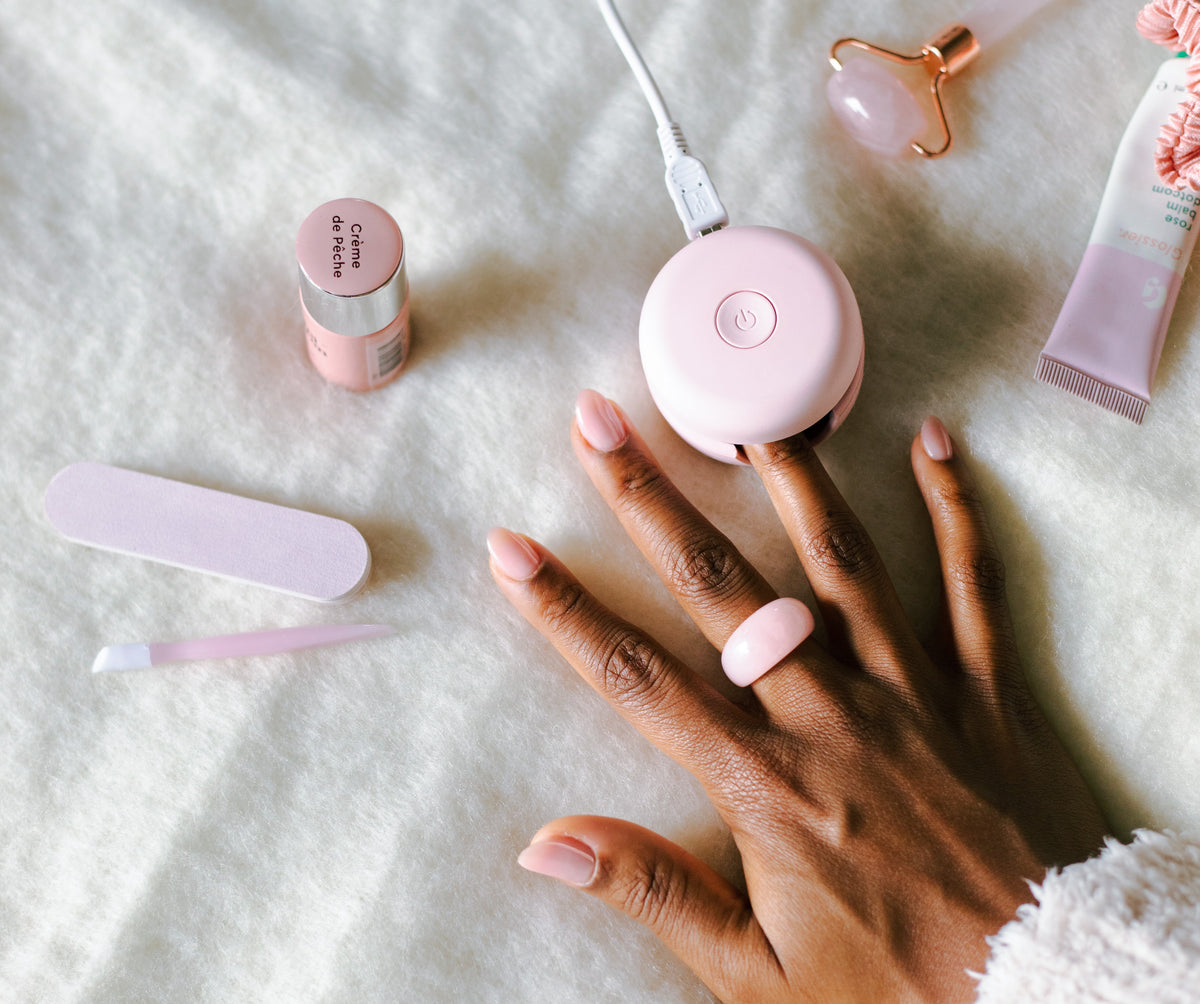
[{"label": "finger with its tip inserted under the pink nail lamp", "polygon": [[920,644],[858,517],[803,435],[746,446],[796,547],[835,656],[908,680]]}]

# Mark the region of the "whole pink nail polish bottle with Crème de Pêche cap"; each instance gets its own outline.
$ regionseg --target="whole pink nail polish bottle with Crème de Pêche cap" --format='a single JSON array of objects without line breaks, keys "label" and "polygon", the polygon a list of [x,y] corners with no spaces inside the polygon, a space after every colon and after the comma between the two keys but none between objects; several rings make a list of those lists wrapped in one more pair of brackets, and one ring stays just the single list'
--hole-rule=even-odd
[{"label": "whole pink nail polish bottle with Cr\u00e8me de P\u00eache cap", "polygon": [[408,357],[404,238],[365,199],[314,209],[296,236],[308,357],[330,383],[365,391],[395,379]]}]

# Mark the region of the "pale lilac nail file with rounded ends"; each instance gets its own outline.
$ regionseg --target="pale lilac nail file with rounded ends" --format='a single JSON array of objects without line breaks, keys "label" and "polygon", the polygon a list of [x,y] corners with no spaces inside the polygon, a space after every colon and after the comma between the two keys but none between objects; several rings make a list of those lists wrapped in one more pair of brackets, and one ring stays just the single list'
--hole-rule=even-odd
[{"label": "pale lilac nail file with rounded ends", "polygon": [[67,540],[180,569],[348,600],[371,572],[349,523],[100,463],[62,468],[46,515]]}]

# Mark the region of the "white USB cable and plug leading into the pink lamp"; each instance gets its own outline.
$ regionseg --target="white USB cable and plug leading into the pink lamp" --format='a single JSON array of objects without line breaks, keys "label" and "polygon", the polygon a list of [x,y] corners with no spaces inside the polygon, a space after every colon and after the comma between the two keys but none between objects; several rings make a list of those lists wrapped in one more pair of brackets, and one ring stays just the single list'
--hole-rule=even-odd
[{"label": "white USB cable and plug leading into the pink lamp", "polygon": [[654,83],[646,60],[634,44],[629,35],[629,29],[617,13],[613,0],[596,0],[600,13],[604,14],[608,31],[616,40],[617,46],[625,56],[629,68],[634,71],[634,77],[646,95],[646,101],[654,113],[658,122],[659,146],[662,150],[662,161],[667,167],[666,184],[671,202],[674,203],[676,212],[683,221],[684,232],[688,240],[695,240],[713,230],[719,230],[730,222],[730,215],[721,205],[721,199],[716,194],[716,187],[708,176],[708,169],[697,157],[691,156],[688,150],[688,140],[684,139],[683,130],[671,118],[667,104],[662,100],[659,85]]}]

